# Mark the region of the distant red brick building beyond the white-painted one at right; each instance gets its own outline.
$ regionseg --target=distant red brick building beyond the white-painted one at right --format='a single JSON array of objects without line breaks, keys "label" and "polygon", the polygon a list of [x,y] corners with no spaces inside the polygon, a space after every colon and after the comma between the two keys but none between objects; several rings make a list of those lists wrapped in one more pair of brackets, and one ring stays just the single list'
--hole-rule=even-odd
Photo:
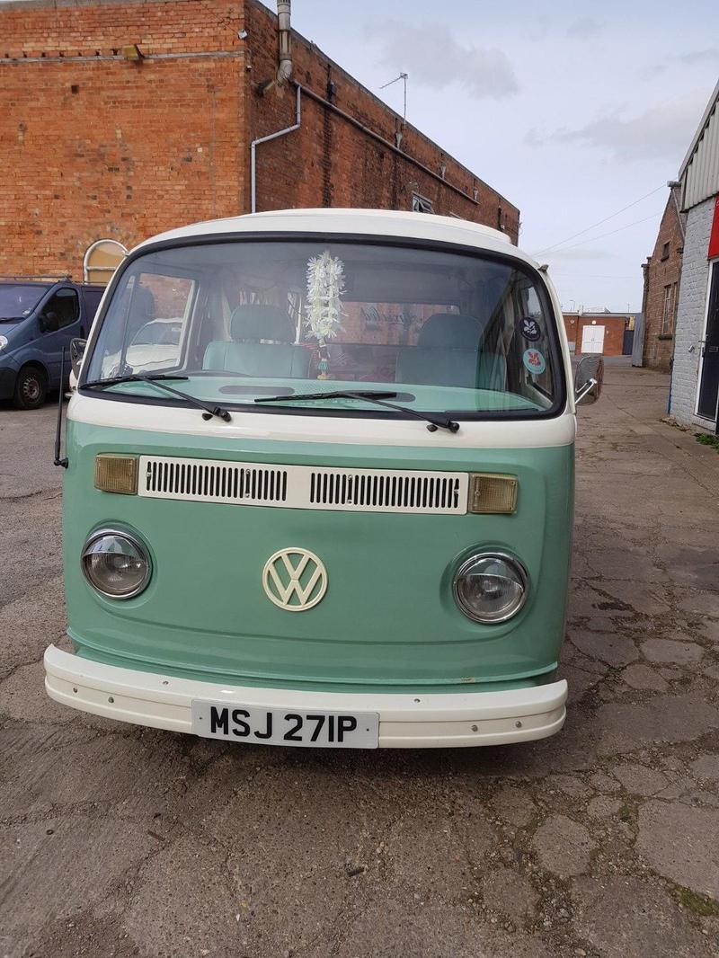
[{"label": "distant red brick building beyond the white-painted one at right", "polygon": [[[644,347],[642,365],[668,372],[674,354],[674,324],[662,332],[664,289],[671,286],[672,320],[676,317],[679,285],[684,259],[684,233],[673,196],[669,196],[661,217],[654,252],[644,270]],[[668,255],[664,254],[666,243]]]}]

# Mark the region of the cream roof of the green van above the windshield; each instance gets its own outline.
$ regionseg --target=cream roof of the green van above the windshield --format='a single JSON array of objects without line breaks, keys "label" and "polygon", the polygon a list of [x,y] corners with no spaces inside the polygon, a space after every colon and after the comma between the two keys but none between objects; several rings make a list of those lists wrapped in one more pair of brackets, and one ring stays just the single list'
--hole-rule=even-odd
[{"label": "cream roof of the green van above the windshield", "polygon": [[435,239],[455,242],[475,249],[483,249],[516,256],[536,265],[522,253],[506,234],[490,226],[473,223],[458,217],[438,217],[427,213],[406,213],[397,210],[319,209],[272,210],[252,213],[244,217],[210,219],[169,230],[140,243],[176,239],[196,239],[214,234],[231,233],[337,233],[371,235],[404,239]]}]

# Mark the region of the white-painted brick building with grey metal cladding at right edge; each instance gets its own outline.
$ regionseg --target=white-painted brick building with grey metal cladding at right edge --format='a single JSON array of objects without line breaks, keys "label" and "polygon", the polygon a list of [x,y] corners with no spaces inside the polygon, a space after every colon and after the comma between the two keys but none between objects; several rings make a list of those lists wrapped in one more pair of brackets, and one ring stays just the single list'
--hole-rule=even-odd
[{"label": "white-painted brick building with grey metal cladding at right edge", "polygon": [[715,431],[719,404],[719,83],[679,171],[684,264],[669,411]]}]

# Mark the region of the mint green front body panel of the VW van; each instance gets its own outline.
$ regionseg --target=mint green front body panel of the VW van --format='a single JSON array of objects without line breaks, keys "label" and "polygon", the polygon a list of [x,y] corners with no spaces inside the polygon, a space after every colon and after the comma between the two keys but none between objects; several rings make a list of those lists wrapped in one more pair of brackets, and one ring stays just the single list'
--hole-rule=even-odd
[{"label": "mint green front body panel of the VW van", "polygon": [[[345,468],[508,472],[513,515],[324,512],[116,495],[93,487],[99,452]],[[466,692],[550,681],[564,636],[571,548],[572,445],[452,449],[242,443],[68,422],[63,539],[69,634],[83,656],[189,678],[313,691]],[[99,596],[81,574],[86,536],[125,526],[148,543],[151,583],[136,599]],[[514,553],[527,603],[510,622],[471,622],[452,574],[475,547]],[[274,552],[323,560],[321,603],[270,603]]]}]

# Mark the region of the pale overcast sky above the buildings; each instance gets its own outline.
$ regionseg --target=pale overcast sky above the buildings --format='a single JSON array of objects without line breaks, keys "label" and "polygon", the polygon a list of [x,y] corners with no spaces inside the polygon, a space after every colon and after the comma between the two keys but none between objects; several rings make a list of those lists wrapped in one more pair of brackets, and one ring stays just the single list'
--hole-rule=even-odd
[{"label": "pale overcast sky above the buildings", "polygon": [[379,87],[406,71],[408,122],[520,207],[520,245],[549,262],[565,308],[638,310],[666,181],[719,78],[716,11],[293,0],[292,24],[399,112],[402,83]]}]

